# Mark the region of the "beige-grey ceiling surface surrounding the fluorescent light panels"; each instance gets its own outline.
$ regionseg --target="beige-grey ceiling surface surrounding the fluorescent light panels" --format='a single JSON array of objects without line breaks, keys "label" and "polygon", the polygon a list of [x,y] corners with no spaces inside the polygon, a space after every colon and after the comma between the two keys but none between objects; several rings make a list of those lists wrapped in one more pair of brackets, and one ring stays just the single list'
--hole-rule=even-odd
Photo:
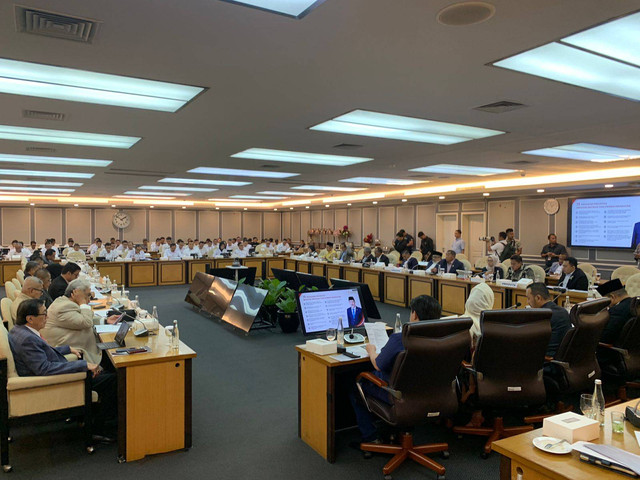
[{"label": "beige-grey ceiling surface surrounding the fluorescent light panels", "polygon": [[[0,94],[1,124],[143,137],[130,150],[37,144],[55,148],[56,156],[113,160],[107,169],[76,169],[96,173],[76,192],[82,196],[121,194],[165,175],[192,176],[185,172],[199,166],[260,169],[268,162],[229,158],[250,147],[375,160],[351,167],[271,163],[301,175],[255,179],[253,185],[185,199],[334,185],[354,176],[409,178],[408,169],[437,163],[523,168],[507,162],[537,160],[524,166],[527,175],[562,173],[603,166],[519,152],[579,142],[640,149],[640,103],[487,66],[640,9],[638,0],[493,0],[496,15],[467,27],[437,23],[437,12],[452,0],[326,0],[302,20],[218,0],[27,2],[22,4],[103,24],[90,45],[18,33],[14,5],[2,2],[0,57],[209,89],[173,114]],[[473,110],[500,100],[528,107],[503,114]],[[67,118],[29,120],[23,109]],[[439,146],[307,129],[354,109],[508,134]],[[362,148],[333,148],[340,143]],[[34,145],[0,140],[0,153],[26,154]],[[109,175],[111,168],[161,173]]]}]

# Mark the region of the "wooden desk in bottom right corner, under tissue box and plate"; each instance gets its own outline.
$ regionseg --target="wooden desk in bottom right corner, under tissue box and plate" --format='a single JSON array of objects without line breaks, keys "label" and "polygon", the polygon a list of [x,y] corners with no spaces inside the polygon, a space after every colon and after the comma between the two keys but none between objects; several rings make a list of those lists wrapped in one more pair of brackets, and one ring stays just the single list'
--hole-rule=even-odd
[{"label": "wooden desk in bottom right corner, under tissue box and plate", "polygon": [[[635,405],[637,400],[607,408],[605,412],[605,426],[600,429],[600,439],[593,443],[603,443],[622,448],[636,455],[640,454],[638,442],[629,422],[624,422],[624,434],[611,432],[611,416],[609,412],[623,412],[627,405]],[[501,480],[585,480],[597,478],[601,480],[621,480],[625,477],[604,468],[596,467],[579,460],[578,453],[568,455],[553,455],[545,453],[532,444],[535,437],[542,435],[542,429],[498,440],[493,443],[493,449],[500,453]],[[520,476],[518,476],[520,475]]]}]

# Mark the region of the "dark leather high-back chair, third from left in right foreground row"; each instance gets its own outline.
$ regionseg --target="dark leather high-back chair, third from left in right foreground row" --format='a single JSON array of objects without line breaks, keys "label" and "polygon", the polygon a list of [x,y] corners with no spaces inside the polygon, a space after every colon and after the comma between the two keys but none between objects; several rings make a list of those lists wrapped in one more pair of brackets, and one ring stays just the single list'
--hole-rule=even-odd
[{"label": "dark leather high-back chair, third from left in right foreground row", "polygon": [[571,328],[560,342],[552,364],[551,377],[560,394],[593,390],[593,382],[600,378],[596,350],[602,330],[609,321],[608,298],[578,303],[571,309]]}]

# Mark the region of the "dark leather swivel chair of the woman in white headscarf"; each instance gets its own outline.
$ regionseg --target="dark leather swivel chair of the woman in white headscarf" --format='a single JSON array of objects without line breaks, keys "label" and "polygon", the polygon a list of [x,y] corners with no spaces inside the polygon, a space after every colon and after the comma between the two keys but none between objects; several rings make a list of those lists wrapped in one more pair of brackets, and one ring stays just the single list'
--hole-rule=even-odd
[{"label": "dark leather swivel chair of the woman in white headscarf", "polygon": [[487,310],[480,316],[481,336],[467,371],[475,380],[475,403],[493,412],[491,427],[454,427],[458,434],[489,437],[482,452],[501,438],[533,430],[532,425],[504,426],[504,413],[545,403],[542,369],[551,337],[551,310]]}]

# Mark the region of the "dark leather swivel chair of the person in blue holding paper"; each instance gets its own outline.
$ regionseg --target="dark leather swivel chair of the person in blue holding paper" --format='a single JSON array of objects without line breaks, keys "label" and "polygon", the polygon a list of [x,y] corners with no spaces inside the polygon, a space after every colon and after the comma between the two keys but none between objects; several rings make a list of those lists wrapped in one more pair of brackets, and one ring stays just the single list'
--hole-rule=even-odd
[{"label": "dark leather swivel chair of the person in blue holding paper", "polygon": [[[450,417],[458,410],[456,374],[469,352],[471,325],[469,318],[407,323],[402,327],[405,351],[396,358],[389,383],[370,372],[358,376],[360,394],[369,411],[403,431],[399,445],[360,445],[364,451],[394,455],[382,469],[385,478],[410,458],[444,479],[445,467],[426,454],[444,452],[446,458],[449,445],[414,446],[411,429],[427,419]],[[386,390],[391,404],[365,394],[360,387],[363,381]]]}]

